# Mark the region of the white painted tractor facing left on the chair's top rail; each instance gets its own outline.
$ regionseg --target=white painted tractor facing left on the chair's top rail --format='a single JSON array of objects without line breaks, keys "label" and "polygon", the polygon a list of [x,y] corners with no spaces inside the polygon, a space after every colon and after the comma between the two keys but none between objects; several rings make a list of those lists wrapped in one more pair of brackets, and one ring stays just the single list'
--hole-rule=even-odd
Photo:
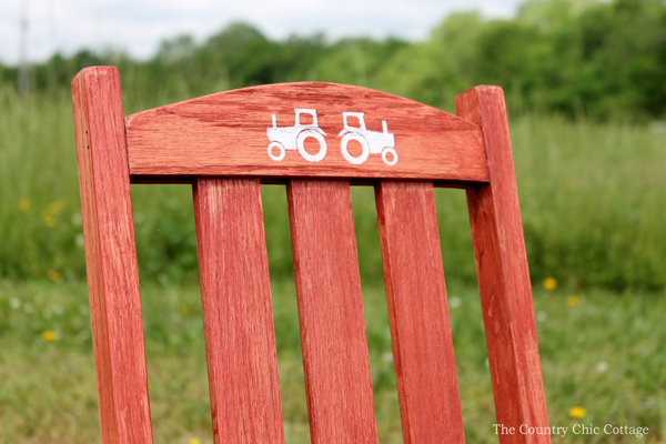
[{"label": "white painted tractor facing left on the chair's top rail", "polygon": [[[319,128],[316,123],[316,110],[305,108],[294,108],[296,121],[293,127],[278,128],[275,123],[275,114],[273,114],[273,127],[266,129],[269,135],[269,157],[274,161],[284,159],[285,150],[299,150],[303,159],[310,162],[319,162],[326,155],[326,133]],[[301,114],[310,114],[312,117],[311,124],[301,124]],[[320,150],[316,154],[310,154],[305,151],[305,139],[313,138],[320,143]],[[278,149],[278,155],[273,154],[273,150]]]}]

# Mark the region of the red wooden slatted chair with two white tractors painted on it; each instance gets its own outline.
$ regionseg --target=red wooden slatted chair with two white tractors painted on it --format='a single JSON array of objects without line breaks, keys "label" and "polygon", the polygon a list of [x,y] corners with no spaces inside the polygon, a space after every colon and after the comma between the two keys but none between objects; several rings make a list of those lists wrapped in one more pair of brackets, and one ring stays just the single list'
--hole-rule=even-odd
[{"label": "red wooden slatted chair with two white tractors painted on it", "polygon": [[103,443],[152,443],[131,182],[193,185],[215,443],[284,442],[261,183],[286,184],[313,443],[377,442],[360,183],[376,193],[404,442],[464,442],[433,193],[452,186],[467,192],[497,423],[515,431],[500,442],[549,443],[519,432],[548,421],[502,89],[462,93],[457,117],[304,82],[123,120],[111,67],[72,93]]}]

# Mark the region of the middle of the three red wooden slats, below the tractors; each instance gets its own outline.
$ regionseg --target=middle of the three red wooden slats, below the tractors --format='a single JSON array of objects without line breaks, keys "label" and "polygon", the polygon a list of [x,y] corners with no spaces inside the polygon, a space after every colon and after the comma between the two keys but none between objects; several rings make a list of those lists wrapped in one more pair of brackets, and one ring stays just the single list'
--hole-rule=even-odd
[{"label": "middle of the three red wooden slats, below the tractors", "polygon": [[350,184],[287,184],[310,433],[314,444],[376,443]]}]

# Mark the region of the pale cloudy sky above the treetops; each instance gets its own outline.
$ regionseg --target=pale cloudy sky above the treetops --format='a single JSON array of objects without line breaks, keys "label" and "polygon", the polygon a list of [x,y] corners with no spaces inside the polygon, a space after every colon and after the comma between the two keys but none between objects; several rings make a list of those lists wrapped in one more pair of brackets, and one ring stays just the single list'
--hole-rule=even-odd
[{"label": "pale cloudy sky above the treetops", "polygon": [[330,39],[370,36],[421,40],[447,14],[477,10],[512,17],[519,0],[0,0],[0,62],[20,54],[20,18],[28,18],[27,54],[43,61],[60,51],[122,50],[147,59],[160,41],[191,34],[196,41],[233,21],[271,39],[323,32]]}]

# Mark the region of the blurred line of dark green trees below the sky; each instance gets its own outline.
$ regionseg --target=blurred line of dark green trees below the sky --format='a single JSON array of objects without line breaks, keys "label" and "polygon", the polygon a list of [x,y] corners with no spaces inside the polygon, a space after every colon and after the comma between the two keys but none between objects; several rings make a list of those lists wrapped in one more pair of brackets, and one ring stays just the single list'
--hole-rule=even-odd
[{"label": "blurred line of dark green trees below the sky", "polygon": [[[512,19],[451,14],[420,42],[323,34],[276,41],[239,22],[203,42],[164,40],[148,61],[88,50],[54,54],[31,67],[32,92],[68,88],[91,64],[118,65],[123,90],[148,101],[312,80],[451,110],[457,93],[484,83],[503,87],[513,111],[658,119],[666,114],[666,1],[532,0]],[[17,68],[0,72],[3,83],[16,83]]]}]

